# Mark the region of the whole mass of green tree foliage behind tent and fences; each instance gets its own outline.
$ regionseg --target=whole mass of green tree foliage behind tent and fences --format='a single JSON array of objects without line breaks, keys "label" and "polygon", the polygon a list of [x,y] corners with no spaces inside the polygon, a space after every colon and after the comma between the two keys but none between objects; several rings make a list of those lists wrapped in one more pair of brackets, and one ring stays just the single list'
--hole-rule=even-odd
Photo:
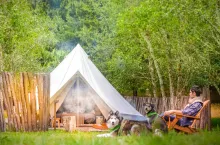
[{"label": "whole mass of green tree foliage behind tent and fences", "polygon": [[49,72],[79,43],[117,90],[144,94],[153,89],[148,36],[166,96],[170,79],[175,92],[219,89],[219,16],[215,0],[2,1],[1,71]]}]

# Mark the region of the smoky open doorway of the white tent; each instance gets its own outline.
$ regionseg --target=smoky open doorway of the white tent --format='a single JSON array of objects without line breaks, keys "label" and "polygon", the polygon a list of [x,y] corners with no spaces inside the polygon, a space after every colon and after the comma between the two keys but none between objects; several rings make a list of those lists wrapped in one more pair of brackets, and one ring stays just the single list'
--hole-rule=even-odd
[{"label": "smoky open doorway of the white tent", "polygon": [[104,121],[98,107],[100,101],[97,101],[97,94],[91,90],[90,86],[81,77],[76,77],[64,98],[56,112],[56,116],[61,118],[61,123],[67,116],[75,116],[76,126],[102,123]]}]

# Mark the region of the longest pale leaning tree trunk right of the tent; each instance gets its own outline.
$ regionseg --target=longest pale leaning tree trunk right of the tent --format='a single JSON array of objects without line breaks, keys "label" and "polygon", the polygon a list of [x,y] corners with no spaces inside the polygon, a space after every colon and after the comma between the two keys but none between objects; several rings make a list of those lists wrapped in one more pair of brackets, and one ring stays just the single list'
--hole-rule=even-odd
[{"label": "longest pale leaning tree trunk right of the tent", "polygon": [[151,43],[150,43],[150,40],[148,39],[148,37],[146,35],[143,34],[143,37],[145,39],[145,41],[147,42],[147,48],[149,49],[149,52],[150,52],[150,56],[151,58],[153,59],[153,62],[154,62],[154,66],[155,66],[155,69],[157,71],[157,75],[158,75],[158,78],[159,78],[159,82],[160,82],[160,91],[161,91],[161,94],[162,94],[162,97],[166,97],[165,95],[165,91],[164,91],[164,84],[163,84],[163,79],[162,79],[162,75],[160,73],[160,69],[159,69],[159,66],[158,66],[158,63],[156,61],[156,58],[154,56],[154,50],[151,46]]}]

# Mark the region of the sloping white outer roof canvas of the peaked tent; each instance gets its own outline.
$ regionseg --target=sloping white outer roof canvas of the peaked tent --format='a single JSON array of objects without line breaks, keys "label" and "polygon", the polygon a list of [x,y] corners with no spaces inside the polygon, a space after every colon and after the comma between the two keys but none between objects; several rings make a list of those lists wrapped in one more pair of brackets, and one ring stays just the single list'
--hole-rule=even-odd
[{"label": "sloping white outer roof canvas of the peaked tent", "polygon": [[147,119],[133,108],[102,75],[86,52],[78,44],[65,59],[50,73],[50,100],[53,102],[60,90],[76,74],[86,80],[90,87],[112,109],[126,119],[146,121]]}]

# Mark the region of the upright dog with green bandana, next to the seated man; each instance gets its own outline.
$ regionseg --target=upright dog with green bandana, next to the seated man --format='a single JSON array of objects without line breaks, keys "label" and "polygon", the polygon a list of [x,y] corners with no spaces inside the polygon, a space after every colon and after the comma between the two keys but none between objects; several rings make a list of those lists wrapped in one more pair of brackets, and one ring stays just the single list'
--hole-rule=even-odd
[{"label": "upright dog with green bandana, next to the seated man", "polygon": [[155,110],[154,104],[144,103],[144,111],[146,116],[149,118],[149,123],[152,127],[152,132],[161,136],[161,132],[167,133],[168,128],[166,122],[159,116]]}]

